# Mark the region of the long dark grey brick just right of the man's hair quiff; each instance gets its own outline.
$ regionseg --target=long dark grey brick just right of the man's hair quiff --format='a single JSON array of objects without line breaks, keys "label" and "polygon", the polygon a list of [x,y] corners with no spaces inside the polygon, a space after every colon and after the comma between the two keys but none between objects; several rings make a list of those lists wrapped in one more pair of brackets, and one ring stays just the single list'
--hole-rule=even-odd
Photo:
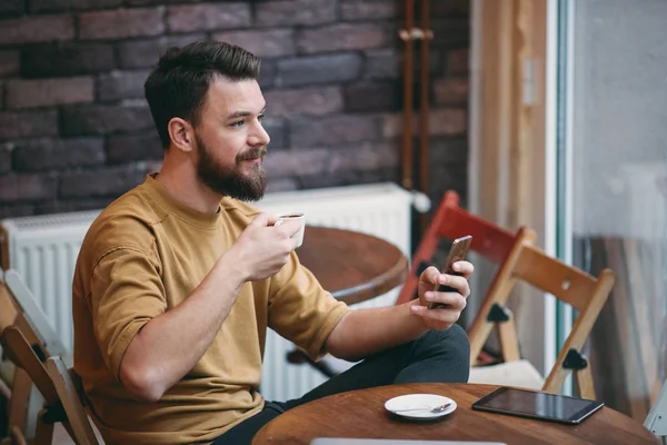
[{"label": "long dark grey brick just right of the man's hair quiff", "polygon": [[361,72],[358,53],[301,57],[278,62],[276,86],[332,83],[355,80]]}]

